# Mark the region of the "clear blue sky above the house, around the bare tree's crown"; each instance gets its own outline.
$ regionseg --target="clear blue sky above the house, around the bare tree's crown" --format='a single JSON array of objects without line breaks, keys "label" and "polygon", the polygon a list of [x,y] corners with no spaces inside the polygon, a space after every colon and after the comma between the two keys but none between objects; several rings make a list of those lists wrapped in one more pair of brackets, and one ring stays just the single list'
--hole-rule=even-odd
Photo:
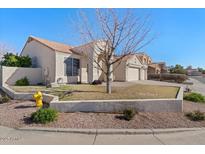
[{"label": "clear blue sky above the house, around the bare tree's crown", "polygon": [[[0,9],[0,42],[20,52],[34,35],[69,45],[80,44],[75,20],[80,9]],[[93,9],[85,9],[90,21]],[[154,61],[205,68],[205,9],[136,9],[150,13],[157,38],[143,49]]]}]

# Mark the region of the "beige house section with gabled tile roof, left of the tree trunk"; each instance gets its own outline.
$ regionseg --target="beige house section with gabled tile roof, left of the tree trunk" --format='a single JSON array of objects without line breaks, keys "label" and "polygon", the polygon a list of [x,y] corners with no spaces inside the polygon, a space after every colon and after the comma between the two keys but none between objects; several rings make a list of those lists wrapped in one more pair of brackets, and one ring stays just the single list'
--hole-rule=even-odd
[{"label": "beige house section with gabled tile roof, left of the tree trunk", "polygon": [[42,68],[43,81],[49,83],[91,83],[103,80],[102,71],[94,63],[96,43],[91,42],[79,47],[48,41],[30,36],[21,52],[32,58],[33,67]]}]

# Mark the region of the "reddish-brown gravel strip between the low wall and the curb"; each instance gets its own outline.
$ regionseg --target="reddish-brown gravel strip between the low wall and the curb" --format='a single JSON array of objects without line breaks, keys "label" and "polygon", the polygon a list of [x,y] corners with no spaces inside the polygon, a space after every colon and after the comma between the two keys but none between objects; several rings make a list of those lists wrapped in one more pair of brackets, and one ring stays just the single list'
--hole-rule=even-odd
[{"label": "reddish-brown gravel strip between the low wall and the curb", "polygon": [[[200,109],[205,112],[205,104],[184,101],[184,111]],[[107,113],[59,113],[58,120],[46,124],[32,124],[29,116],[34,112],[34,102],[15,101],[0,104],[0,125],[9,127],[42,126],[62,128],[176,128],[205,127],[205,121],[193,122],[183,113],[143,113],[140,112],[131,121],[118,118],[120,114]]]}]

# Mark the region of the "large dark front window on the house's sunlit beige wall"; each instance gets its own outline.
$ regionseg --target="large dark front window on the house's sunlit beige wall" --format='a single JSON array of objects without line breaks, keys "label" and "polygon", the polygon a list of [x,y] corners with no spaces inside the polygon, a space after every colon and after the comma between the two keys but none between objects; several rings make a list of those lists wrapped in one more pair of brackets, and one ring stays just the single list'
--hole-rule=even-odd
[{"label": "large dark front window on the house's sunlit beige wall", "polygon": [[78,76],[80,68],[80,60],[76,58],[65,59],[65,74],[67,76]]}]

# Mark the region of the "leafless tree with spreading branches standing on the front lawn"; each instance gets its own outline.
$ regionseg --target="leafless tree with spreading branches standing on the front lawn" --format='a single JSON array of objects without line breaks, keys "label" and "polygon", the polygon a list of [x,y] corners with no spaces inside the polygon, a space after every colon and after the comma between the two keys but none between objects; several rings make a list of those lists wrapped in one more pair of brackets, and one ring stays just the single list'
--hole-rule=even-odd
[{"label": "leafless tree with spreading branches standing on the front lawn", "polygon": [[[84,41],[96,42],[94,63],[106,76],[106,92],[111,93],[112,73],[121,61],[129,55],[137,53],[149,44],[153,38],[147,39],[151,26],[149,15],[137,17],[132,10],[128,9],[124,15],[119,15],[115,9],[96,9],[96,22],[92,23],[81,12],[81,36]],[[94,27],[90,26],[94,25]],[[100,40],[100,41],[96,41]],[[99,43],[103,42],[103,43]],[[98,57],[103,62],[100,65]]]}]

